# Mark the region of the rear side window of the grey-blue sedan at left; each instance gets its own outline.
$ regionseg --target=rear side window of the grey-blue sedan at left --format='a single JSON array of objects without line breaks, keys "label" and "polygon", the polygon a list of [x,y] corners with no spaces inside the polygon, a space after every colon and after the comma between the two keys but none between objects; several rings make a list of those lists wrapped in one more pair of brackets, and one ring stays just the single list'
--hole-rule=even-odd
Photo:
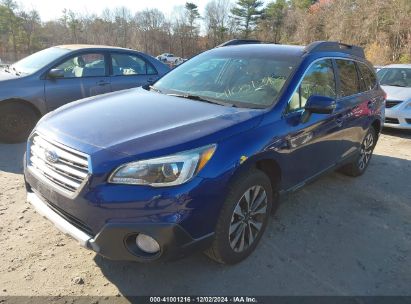
[{"label": "rear side window of the grey-blue sedan at left", "polygon": [[139,56],[130,54],[112,54],[113,76],[153,75],[154,67]]}]

